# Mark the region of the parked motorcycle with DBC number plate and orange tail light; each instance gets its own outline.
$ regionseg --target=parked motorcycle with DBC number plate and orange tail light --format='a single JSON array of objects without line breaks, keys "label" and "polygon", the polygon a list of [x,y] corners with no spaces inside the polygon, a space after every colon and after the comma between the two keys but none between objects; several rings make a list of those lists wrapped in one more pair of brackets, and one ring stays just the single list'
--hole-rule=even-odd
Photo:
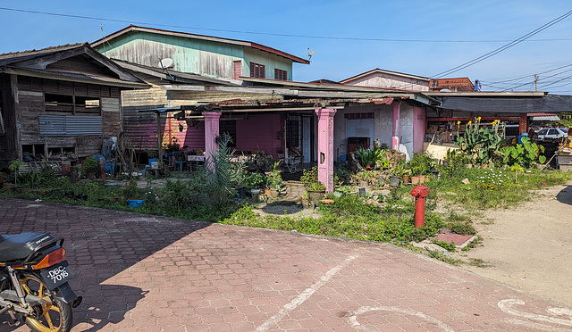
[{"label": "parked motorcycle with DBC number plate and orange tail light", "polygon": [[32,331],[68,332],[81,303],[68,281],[63,238],[49,233],[0,235],[0,314]]}]

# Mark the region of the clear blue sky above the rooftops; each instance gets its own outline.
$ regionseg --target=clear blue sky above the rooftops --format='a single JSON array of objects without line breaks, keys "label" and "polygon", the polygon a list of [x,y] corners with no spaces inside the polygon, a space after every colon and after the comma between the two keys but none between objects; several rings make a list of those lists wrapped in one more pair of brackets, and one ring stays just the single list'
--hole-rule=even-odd
[{"label": "clear blue sky above the rooftops", "polygon": [[[100,24],[108,35],[132,23],[249,40],[300,57],[307,57],[310,48],[315,50],[312,63],[293,69],[294,80],[309,81],[347,79],[374,68],[436,77],[566,14],[572,3],[4,0],[0,7],[96,18],[0,9],[0,53],[93,42],[102,36]],[[480,79],[484,90],[530,91],[536,73],[539,90],[572,95],[571,32],[572,16],[446,77]]]}]

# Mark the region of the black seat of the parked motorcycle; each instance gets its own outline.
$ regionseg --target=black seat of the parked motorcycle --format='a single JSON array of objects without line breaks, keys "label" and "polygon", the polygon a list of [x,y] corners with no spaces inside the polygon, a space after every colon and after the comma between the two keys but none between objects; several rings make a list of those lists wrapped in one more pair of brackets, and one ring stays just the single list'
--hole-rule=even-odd
[{"label": "black seat of the parked motorcycle", "polygon": [[0,235],[0,261],[23,260],[38,248],[54,241],[55,237],[49,233],[24,232]]}]

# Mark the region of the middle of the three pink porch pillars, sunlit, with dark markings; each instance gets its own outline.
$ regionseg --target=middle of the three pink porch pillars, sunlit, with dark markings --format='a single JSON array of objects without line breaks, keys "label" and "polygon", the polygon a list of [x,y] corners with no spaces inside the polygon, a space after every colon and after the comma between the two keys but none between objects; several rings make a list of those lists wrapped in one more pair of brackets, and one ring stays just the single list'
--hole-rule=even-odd
[{"label": "middle of the three pink porch pillars, sunlit, with dark markings", "polygon": [[316,109],[318,116],[318,180],[333,192],[333,116],[336,110]]}]

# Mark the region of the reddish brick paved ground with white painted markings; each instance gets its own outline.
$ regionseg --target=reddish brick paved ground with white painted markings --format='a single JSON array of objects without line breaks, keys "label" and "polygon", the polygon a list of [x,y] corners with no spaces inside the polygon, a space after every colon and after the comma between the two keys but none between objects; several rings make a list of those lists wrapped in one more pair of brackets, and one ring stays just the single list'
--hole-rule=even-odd
[{"label": "reddish brick paved ground with white painted markings", "polygon": [[0,220],[65,237],[73,331],[572,330],[570,308],[387,244],[2,197]]}]

